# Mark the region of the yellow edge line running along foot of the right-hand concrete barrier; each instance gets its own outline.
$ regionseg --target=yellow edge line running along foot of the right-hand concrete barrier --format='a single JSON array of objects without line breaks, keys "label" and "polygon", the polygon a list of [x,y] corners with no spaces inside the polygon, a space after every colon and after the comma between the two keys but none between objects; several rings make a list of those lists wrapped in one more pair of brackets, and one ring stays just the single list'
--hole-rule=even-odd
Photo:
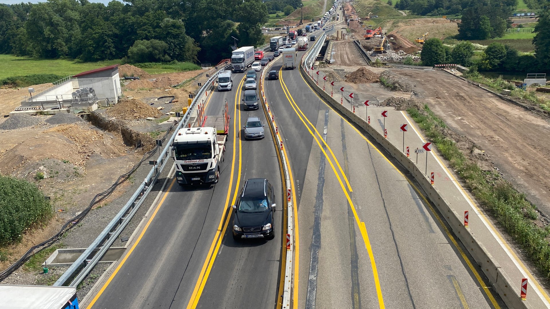
[{"label": "yellow edge line running along foot of the right-hand concrete barrier", "polygon": [[[305,81],[304,79],[304,76],[302,76],[300,74],[301,78],[304,80],[305,84],[311,89],[311,86],[309,84],[307,84],[307,82]],[[315,93],[315,95],[321,100],[324,102],[324,100],[321,99],[320,96],[317,95],[317,93],[315,91],[313,91],[313,89],[311,89],[311,91],[313,93]],[[334,111],[337,115],[340,116],[340,118],[342,118],[346,123],[348,123],[348,125],[353,128],[357,134],[359,134],[359,136],[362,137],[362,139],[364,139],[368,145],[370,145],[372,148],[374,148],[378,154],[380,154],[380,156],[382,156],[382,158],[384,158],[390,165],[392,165],[392,167],[397,170],[397,172],[403,176],[403,178],[409,183],[409,185],[415,190],[416,194],[418,194],[422,200],[425,202],[425,204],[430,208],[432,214],[434,215],[434,217],[437,218],[438,222],[439,222],[439,225],[443,228],[443,230],[445,231],[445,234],[447,234],[447,236],[449,237],[449,239],[453,242],[453,245],[455,246],[456,250],[459,251],[460,253],[460,256],[463,258],[463,260],[466,262],[466,264],[468,265],[468,267],[470,268],[470,271],[472,273],[474,273],[474,277],[476,277],[477,279],[477,282],[480,284],[480,286],[482,286],[483,288],[483,291],[485,292],[485,294],[487,295],[488,299],[491,301],[491,304],[493,305],[494,308],[496,309],[499,309],[500,306],[498,305],[497,301],[494,299],[493,297],[493,294],[491,293],[491,291],[489,291],[489,289],[487,288],[487,284],[485,282],[483,282],[483,279],[481,278],[481,275],[477,272],[477,270],[475,269],[474,265],[471,263],[471,261],[469,260],[469,258],[466,256],[466,254],[464,253],[464,251],[460,248],[460,246],[458,245],[458,242],[456,242],[456,240],[454,239],[453,235],[450,233],[450,231],[447,229],[447,227],[445,226],[445,224],[443,223],[443,220],[438,216],[437,212],[435,211],[435,209],[432,207],[431,203],[428,201],[428,199],[420,192],[420,190],[418,189],[418,187],[416,187],[412,181],[407,178],[403,173],[401,173],[401,171],[395,167],[395,165],[389,161],[389,159],[384,156],[384,154],[378,150],[378,148],[373,145],[364,135],[361,134],[361,132],[359,130],[357,130],[357,128],[355,128],[354,125],[352,125],[351,123],[348,122],[347,119],[345,119],[344,117],[342,117],[342,115],[340,115],[340,113],[338,111],[336,111],[332,106],[330,106],[330,104],[324,102],[329,108],[332,109],[332,111]],[[410,122],[409,122],[410,123]],[[414,127],[414,126],[413,126]]]}]

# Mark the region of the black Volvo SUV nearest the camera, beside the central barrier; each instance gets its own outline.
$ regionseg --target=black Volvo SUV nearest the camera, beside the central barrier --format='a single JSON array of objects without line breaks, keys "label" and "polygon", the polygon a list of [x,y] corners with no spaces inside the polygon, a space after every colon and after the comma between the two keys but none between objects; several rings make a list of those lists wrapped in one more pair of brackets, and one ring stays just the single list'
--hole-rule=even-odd
[{"label": "black Volvo SUV nearest the camera, beside the central barrier", "polygon": [[275,194],[267,179],[246,180],[233,209],[233,239],[275,237]]}]

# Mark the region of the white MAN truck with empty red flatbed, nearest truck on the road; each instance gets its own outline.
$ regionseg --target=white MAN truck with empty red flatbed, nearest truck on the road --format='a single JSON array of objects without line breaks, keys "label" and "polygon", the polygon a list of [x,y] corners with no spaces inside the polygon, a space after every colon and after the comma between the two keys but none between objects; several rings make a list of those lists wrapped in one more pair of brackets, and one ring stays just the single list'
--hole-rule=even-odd
[{"label": "white MAN truck with empty red flatbed, nearest truck on the road", "polygon": [[172,142],[175,178],[182,186],[217,183],[226,152],[229,131],[227,100],[223,115],[203,117],[202,107],[198,108],[198,113],[200,126],[179,129]]}]

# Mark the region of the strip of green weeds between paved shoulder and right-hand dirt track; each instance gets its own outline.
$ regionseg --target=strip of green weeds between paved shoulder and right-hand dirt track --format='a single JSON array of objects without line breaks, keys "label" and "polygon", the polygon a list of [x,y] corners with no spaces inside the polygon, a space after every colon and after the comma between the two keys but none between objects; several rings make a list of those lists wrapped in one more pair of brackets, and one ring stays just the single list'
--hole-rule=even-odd
[{"label": "strip of green weeds between paved shoulder and right-hand dirt track", "polygon": [[525,195],[500,175],[484,172],[456,147],[454,141],[443,135],[445,124],[425,105],[422,110],[409,108],[407,112],[425,134],[458,171],[460,177],[474,193],[481,205],[487,207],[511,238],[519,244],[531,261],[546,278],[550,278],[550,230],[533,222],[538,218],[535,206],[525,200]]}]

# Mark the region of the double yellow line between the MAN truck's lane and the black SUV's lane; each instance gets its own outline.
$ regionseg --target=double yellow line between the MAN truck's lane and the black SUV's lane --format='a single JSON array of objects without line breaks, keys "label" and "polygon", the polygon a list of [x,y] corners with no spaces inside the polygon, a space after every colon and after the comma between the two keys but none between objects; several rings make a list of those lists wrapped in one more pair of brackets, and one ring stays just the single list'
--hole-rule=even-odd
[{"label": "double yellow line between the MAN truck's lane and the black SUV's lane", "polygon": [[[241,87],[243,86],[243,82],[244,82],[244,77],[243,77],[243,79],[241,79],[241,81],[239,83],[239,87],[237,88],[237,91],[235,91],[235,104],[237,104],[237,102],[239,102],[238,97],[240,96]],[[238,109],[238,107],[235,106],[234,116],[237,115],[237,109]],[[240,112],[239,112],[239,114],[240,114]],[[233,117],[233,119],[235,119],[235,117]],[[240,122],[239,122],[239,128],[240,128]],[[227,190],[226,202],[224,203],[224,205],[226,207],[228,206],[229,196],[231,195],[231,192],[232,192],[231,188],[232,188],[232,185],[233,185],[233,175],[235,173],[235,154],[236,154],[236,151],[235,151],[236,149],[235,148],[237,147],[237,144],[235,143],[235,141],[237,139],[237,122],[236,122],[236,120],[233,122],[233,131],[234,131],[234,133],[233,133],[233,159],[232,159],[232,164],[231,164],[231,174],[229,176],[229,187],[228,187],[228,190]],[[239,179],[240,179],[240,164],[241,164],[241,161],[240,161],[240,141],[239,141],[239,162],[238,163],[239,163],[239,177],[237,179],[237,185],[235,185],[234,192],[237,192]],[[212,240],[212,244],[210,245],[210,250],[208,250],[208,254],[206,255],[206,260],[205,260],[204,264],[202,265],[201,272],[199,273],[199,278],[197,279],[197,282],[195,284],[195,288],[193,289],[193,294],[191,294],[191,298],[189,299],[189,302],[188,302],[188,305],[187,305],[188,309],[189,308],[194,308],[196,306],[196,302],[199,302],[200,293],[202,293],[201,286],[204,286],[203,283],[205,283],[206,279],[208,278],[208,277],[205,277],[207,268],[210,266],[210,262],[213,263],[213,260],[215,258],[215,254],[218,251],[219,246],[217,246],[217,241],[219,239],[221,240],[223,238],[222,231],[226,230],[226,228],[227,228],[227,222],[228,222],[228,219],[230,217],[229,214],[227,214],[227,212],[228,212],[228,209],[224,208],[223,212],[222,212],[222,218],[219,220],[218,228],[216,230],[216,235],[214,236],[214,239]],[[226,217],[226,214],[227,214],[227,218],[226,218],[226,221],[224,222],[223,219],[224,219],[224,217]],[[213,252],[215,250],[215,248],[216,248],[216,252]]]}]

